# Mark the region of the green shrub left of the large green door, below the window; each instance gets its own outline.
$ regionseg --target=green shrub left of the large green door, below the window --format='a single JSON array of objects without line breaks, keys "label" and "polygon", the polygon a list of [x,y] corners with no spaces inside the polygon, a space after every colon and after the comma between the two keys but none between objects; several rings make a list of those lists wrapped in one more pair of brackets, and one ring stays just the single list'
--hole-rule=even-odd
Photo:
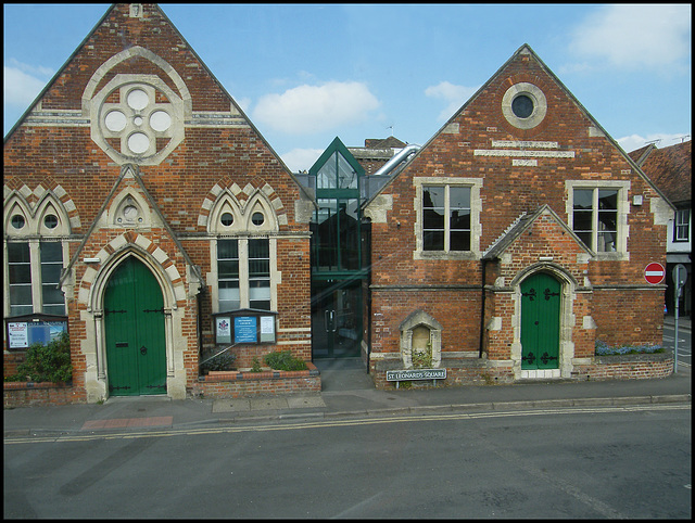
[{"label": "green shrub left of the large green door, below the window", "polygon": [[70,382],[73,366],[70,361],[70,336],[63,332],[60,337],[43,345],[35,343],[26,350],[26,360],[17,366],[16,375],[21,381]]}]

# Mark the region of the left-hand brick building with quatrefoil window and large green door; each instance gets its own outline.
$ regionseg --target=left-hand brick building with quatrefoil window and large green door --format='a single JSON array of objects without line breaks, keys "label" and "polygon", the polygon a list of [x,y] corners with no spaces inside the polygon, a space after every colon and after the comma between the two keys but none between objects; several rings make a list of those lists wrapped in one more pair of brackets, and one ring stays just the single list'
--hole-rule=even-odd
[{"label": "left-hand brick building with quatrefoil window and large green door", "polygon": [[182,398],[215,347],[311,360],[313,197],[155,4],[108,10],[3,183],[5,374],[65,320],[75,400]]}]

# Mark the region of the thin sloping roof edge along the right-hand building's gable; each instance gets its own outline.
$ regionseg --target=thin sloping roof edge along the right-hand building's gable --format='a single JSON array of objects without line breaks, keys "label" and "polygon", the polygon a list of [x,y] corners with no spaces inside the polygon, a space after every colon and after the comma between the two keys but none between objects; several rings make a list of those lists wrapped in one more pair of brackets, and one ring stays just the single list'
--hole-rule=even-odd
[{"label": "thin sloping roof edge along the right-hand building's gable", "polygon": [[[507,68],[509,66],[509,64],[511,62],[514,62],[515,60],[517,60],[517,58],[520,54],[529,54],[531,55],[536,62],[538,64],[541,66],[541,68],[553,79],[553,81],[555,81],[557,84],[557,86],[560,88],[560,90],[563,92],[565,92],[565,94],[573,102],[577,104],[577,106],[579,107],[579,110],[584,114],[584,116],[603,133],[603,136],[606,138],[606,140],[608,140],[610,142],[610,144],[616,148],[620,154],[624,157],[624,160],[631,165],[631,167],[635,170],[635,173],[637,174],[637,176],[640,176],[641,178],[643,178],[645,180],[646,183],[649,184],[649,187],[652,187],[654,189],[654,191],[664,199],[664,201],[671,206],[672,208],[675,208],[674,205],[670,202],[670,200],[668,197],[666,197],[666,195],[664,194],[664,192],[661,192],[659,190],[659,188],[657,186],[654,184],[654,182],[652,182],[652,180],[649,180],[649,178],[642,171],[642,169],[640,169],[640,167],[637,166],[637,164],[634,163],[634,161],[628,155],[628,153],[626,153],[622,148],[618,144],[618,142],[616,142],[610,135],[608,135],[608,132],[606,132],[606,130],[601,126],[601,124],[598,124],[598,122],[596,122],[596,119],[589,113],[589,111],[586,111],[586,109],[579,102],[579,100],[577,100],[577,98],[574,98],[574,95],[571,93],[571,91],[569,89],[567,89],[567,87],[565,86],[565,84],[563,84],[560,81],[560,79],[555,76],[555,74],[549,69],[549,67],[547,65],[545,65],[545,63],[539,58],[538,54],[535,54],[535,52],[531,49],[531,47],[528,43],[525,43],[523,46],[521,46],[519,49],[517,49],[517,51],[495,72],[494,75],[492,75],[488,81],[485,81],[480,89],[478,89],[478,91],[476,91],[476,93],[470,97],[470,99],[468,99],[468,101],[466,101],[466,103],[464,103],[464,105],[462,105],[458,111],[456,111],[451,118],[448,118],[444,125],[442,127],[440,127],[440,129],[432,135],[432,137],[425,143],[425,145],[422,145],[422,148],[415,154],[415,156],[412,158],[410,164],[417,160],[417,157],[422,154],[425,151],[428,150],[430,143],[432,143],[447,127],[450,124],[452,124],[452,122],[454,119],[456,119],[458,117],[458,115],[465,111],[468,105],[470,105],[472,102],[475,102],[478,97],[480,97],[480,94],[490,86],[490,84],[492,84],[495,78],[497,78],[502,72]],[[393,180],[400,176],[401,173],[403,173],[403,170],[406,170],[405,168],[401,169],[397,173],[394,173],[394,175],[392,176],[392,178],[389,180],[388,183],[386,183],[377,193],[374,194],[372,199],[376,197],[377,195],[379,195],[387,187],[389,187]]]}]

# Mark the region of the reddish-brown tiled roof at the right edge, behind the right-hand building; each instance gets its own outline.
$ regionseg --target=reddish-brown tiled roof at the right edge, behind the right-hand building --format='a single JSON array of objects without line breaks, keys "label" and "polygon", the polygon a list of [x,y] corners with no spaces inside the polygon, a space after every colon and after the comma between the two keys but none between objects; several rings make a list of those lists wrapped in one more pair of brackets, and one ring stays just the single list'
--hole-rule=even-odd
[{"label": "reddish-brown tiled roof at the right edge, behind the right-hand building", "polygon": [[[691,156],[692,140],[664,149],[650,145],[632,151],[629,156],[642,167],[642,170],[656,187],[673,203],[683,204],[691,201],[693,169]],[[643,158],[645,156],[646,158]],[[641,162],[641,164],[640,164]]]}]

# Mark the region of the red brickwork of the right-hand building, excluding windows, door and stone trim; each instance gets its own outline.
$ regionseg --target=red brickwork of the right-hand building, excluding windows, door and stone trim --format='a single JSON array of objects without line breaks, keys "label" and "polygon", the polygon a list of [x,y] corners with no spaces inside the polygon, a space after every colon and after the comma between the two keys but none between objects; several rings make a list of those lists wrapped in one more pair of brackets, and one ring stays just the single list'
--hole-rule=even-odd
[{"label": "red brickwork of the right-hand building, excluding windows, door and stone trim", "polygon": [[[535,85],[547,101],[545,118],[528,130],[511,126],[501,109],[507,89],[519,81]],[[572,341],[578,357],[593,354],[594,333],[605,341],[660,343],[664,291],[658,288],[631,290],[648,286],[643,270],[649,262],[662,265],[666,262],[666,226],[655,225],[650,206],[652,199],[658,195],[608,138],[596,136],[601,133],[594,122],[543,65],[532,54],[517,54],[448,124],[383,191],[393,204],[387,213],[387,222],[372,225],[372,283],[377,285],[372,292],[372,312],[383,315],[376,316],[371,324],[372,350],[397,350],[397,324],[418,308],[425,308],[443,324],[447,348],[476,350],[479,347],[480,291],[460,295],[442,293],[437,302],[424,297],[427,293],[403,292],[396,296],[378,289],[378,285],[482,285],[480,260],[414,259],[414,177],[462,177],[482,181],[482,252],[522,213],[532,213],[541,205],[548,205],[567,224],[566,180],[629,181],[629,259],[578,262],[582,248],[552,220],[543,219],[534,226],[534,235],[527,235],[509,247],[510,265],[494,270],[498,271],[496,276],[505,277],[508,285],[511,278],[538,263],[540,256],[552,255],[554,263],[571,275],[579,285],[584,285],[584,278],[587,278],[594,289],[593,295],[581,295],[573,303],[577,323]],[[450,132],[456,125],[458,130]],[[559,151],[571,151],[574,157],[541,157],[536,166],[514,166],[510,157],[473,155],[476,150],[493,149],[493,140],[557,142]],[[631,204],[633,194],[644,196],[642,206]],[[618,289],[596,289],[602,286]],[[462,297],[464,294],[466,298]],[[486,333],[483,345],[491,358],[504,358],[511,343],[511,303],[507,296],[492,297],[490,293],[486,296],[486,314],[494,311],[500,316],[504,311],[504,318],[503,329]],[[596,320],[595,331],[582,329],[584,316]]]}]

